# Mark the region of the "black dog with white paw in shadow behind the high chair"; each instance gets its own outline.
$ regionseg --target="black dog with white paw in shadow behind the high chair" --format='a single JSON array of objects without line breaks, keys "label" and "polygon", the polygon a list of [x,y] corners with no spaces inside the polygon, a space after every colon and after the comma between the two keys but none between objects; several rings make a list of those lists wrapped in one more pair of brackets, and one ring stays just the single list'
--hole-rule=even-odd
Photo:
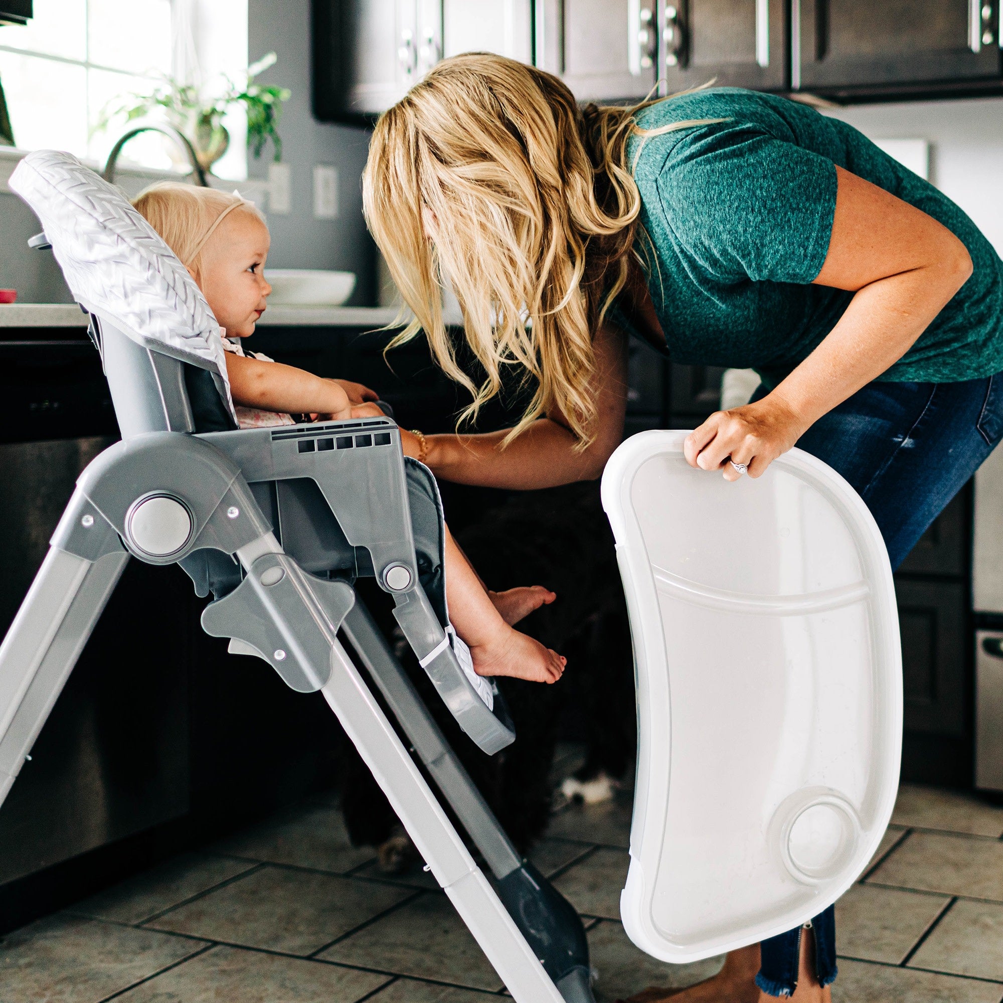
[{"label": "black dog with white paw in shadow behind the high chair", "polygon": [[[402,663],[446,738],[525,853],[547,827],[550,769],[562,732],[585,741],[587,760],[577,774],[581,780],[600,774],[620,777],[634,754],[633,660],[613,537],[597,481],[514,492],[454,533],[489,589],[543,585],[558,597],[519,629],[565,655],[568,669],[550,686],[498,680],[518,737],[494,756],[485,756],[462,734],[407,646],[398,645]],[[391,636],[392,617],[385,603],[382,610],[376,605],[374,615]],[[352,841],[379,847],[386,870],[406,868],[410,845],[350,745],[340,772]]]}]

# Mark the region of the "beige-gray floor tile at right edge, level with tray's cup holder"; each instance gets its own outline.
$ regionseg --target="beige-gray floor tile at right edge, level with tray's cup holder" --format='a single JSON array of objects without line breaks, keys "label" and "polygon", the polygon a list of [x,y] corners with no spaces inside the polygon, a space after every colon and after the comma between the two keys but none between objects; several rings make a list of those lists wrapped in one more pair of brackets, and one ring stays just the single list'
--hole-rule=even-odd
[{"label": "beige-gray floor tile at right edge, level with tray's cup holder", "polygon": [[1003,843],[911,832],[868,881],[1003,902]]}]

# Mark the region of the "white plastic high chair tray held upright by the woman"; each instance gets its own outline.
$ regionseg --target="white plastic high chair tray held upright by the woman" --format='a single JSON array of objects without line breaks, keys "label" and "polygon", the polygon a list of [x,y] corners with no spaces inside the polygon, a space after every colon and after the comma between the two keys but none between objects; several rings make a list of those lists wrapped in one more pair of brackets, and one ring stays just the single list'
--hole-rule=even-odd
[{"label": "white plastic high chair tray held upright by the woman", "polygon": [[620,911],[676,963],[834,902],[891,817],[902,744],[892,570],[865,504],[799,449],[729,483],[686,463],[686,434],[635,435],[603,475],[638,706]]}]

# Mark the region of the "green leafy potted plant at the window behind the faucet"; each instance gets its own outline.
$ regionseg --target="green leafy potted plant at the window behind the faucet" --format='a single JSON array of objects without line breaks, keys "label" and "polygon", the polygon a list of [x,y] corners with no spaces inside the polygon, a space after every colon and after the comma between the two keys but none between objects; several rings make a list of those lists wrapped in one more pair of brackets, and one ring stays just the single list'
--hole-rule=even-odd
[{"label": "green leafy potted plant at the window behind the faucet", "polygon": [[230,145],[230,133],[223,124],[223,116],[230,108],[243,104],[248,116],[248,146],[254,155],[261,156],[266,143],[271,139],[275,159],[281,160],[279,117],[282,102],[289,99],[290,91],[274,84],[255,83],[255,77],[274,65],[276,59],[276,54],[269,52],[249,66],[247,82],[243,86],[236,84],[228,76],[223,77],[223,90],[217,94],[165,76],[163,82],[151,93],[122,94],[109,101],[94,126],[94,131],[106,129],[113,121],[122,121],[127,125],[137,118],[159,114],[189,138],[195,147],[199,163],[208,172]]}]

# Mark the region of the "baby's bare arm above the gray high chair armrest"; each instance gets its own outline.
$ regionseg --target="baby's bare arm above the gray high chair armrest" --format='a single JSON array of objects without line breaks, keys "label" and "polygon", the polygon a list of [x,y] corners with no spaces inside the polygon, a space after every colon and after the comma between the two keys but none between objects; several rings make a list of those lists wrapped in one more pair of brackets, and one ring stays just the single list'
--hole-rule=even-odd
[{"label": "baby's bare arm above the gray high chair armrest", "polygon": [[262,362],[227,352],[227,376],[234,403],[287,414],[330,415],[350,418],[351,404],[344,387],[304,369],[281,362]]}]

